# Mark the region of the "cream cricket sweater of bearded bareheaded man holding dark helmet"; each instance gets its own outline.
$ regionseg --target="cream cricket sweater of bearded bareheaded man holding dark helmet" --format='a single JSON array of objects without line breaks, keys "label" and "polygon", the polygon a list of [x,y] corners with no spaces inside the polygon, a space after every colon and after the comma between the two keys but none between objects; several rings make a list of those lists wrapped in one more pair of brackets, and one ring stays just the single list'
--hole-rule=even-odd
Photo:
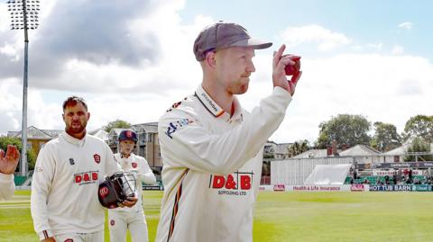
[{"label": "cream cricket sweater of bearded bareheaded man holding dark helmet", "polygon": [[63,131],[45,144],[32,177],[31,211],[39,238],[104,229],[97,190],[106,175],[120,171],[102,139],[75,139]]}]

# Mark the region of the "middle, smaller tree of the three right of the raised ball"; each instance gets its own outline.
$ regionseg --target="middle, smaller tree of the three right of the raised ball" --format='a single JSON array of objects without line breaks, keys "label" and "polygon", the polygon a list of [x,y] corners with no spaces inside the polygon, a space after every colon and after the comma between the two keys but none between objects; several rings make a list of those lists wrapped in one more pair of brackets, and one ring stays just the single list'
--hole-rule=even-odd
[{"label": "middle, smaller tree of the three right of the raised ball", "polygon": [[401,146],[401,137],[393,124],[376,121],[373,123],[373,127],[374,135],[370,142],[373,148],[385,152]]}]

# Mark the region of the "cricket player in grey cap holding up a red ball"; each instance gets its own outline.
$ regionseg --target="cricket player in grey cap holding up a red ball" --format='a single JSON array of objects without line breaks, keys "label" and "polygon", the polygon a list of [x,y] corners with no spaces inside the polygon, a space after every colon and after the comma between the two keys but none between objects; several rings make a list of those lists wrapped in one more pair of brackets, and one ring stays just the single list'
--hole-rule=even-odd
[{"label": "cricket player in grey cap holding up a red ball", "polygon": [[[282,56],[282,45],[273,55],[272,94],[246,112],[236,95],[248,89],[254,49],[271,45],[231,22],[199,33],[201,85],[159,121],[165,191],[156,241],[253,240],[263,145],[284,119],[301,75],[299,56]],[[290,80],[287,66],[296,66]]]}]

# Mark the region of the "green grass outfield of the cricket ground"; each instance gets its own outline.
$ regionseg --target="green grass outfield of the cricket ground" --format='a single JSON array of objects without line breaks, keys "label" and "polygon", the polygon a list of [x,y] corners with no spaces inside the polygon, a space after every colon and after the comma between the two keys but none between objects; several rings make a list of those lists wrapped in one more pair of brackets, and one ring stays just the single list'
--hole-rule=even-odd
[{"label": "green grass outfield of the cricket ground", "polygon": [[[0,242],[38,241],[32,230],[30,192],[0,202]],[[161,192],[144,192],[150,241]],[[106,241],[107,239],[106,229]],[[433,193],[261,192],[254,241],[433,241]],[[127,241],[131,241],[128,238]]]}]

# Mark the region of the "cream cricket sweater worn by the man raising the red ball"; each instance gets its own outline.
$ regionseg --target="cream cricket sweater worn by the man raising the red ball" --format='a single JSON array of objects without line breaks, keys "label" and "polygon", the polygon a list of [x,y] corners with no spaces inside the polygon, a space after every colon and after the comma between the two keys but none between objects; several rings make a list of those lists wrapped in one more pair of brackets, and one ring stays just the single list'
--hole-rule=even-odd
[{"label": "cream cricket sweater worn by the man raising the red ball", "polygon": [[159,121],[163,162],[157,242],[253,240],[253,203],[263,145],[284,118],[290,94],[273,89],[251,113],[232,116],[198,86]]}]

